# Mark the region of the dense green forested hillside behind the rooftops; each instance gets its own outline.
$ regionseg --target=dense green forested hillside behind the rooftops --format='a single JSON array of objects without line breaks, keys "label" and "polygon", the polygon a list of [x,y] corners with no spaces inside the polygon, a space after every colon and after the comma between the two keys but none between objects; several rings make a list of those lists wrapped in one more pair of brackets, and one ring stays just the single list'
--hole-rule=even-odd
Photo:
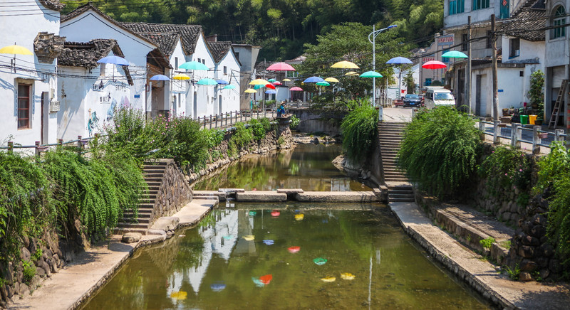
[{"label": "dense green forested hillside behind the rooftops", "polygon": [[[63,13],[87,1],[63,1]],[[118,21],[199,24],[220,41],[263,46],[259,59],[286,60],[304,43],[333,25],[355,21],[385,27],[398,24],[408,43],[425,46],[426,36],[442,28],[442,0],[94,0]]]}]

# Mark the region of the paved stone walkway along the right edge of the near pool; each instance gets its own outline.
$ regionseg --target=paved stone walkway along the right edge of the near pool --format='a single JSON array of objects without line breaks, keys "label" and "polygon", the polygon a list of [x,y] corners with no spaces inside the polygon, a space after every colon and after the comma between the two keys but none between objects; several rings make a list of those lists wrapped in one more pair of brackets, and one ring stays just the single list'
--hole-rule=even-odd
[{"label": "paved stone walkway along the right edge of the near pool", "polygon": [[432,222],[416,203],[390,203],[405,232],[482,296],[504,309],[569,309],[570,285],[516,282]]}]

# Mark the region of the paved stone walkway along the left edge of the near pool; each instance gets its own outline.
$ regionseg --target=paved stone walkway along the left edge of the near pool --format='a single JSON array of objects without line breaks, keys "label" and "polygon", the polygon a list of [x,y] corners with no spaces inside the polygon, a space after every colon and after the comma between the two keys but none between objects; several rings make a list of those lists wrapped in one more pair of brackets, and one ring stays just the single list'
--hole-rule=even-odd
[{"label": "paved stone walkway along the left edge of the near pool", "polygon": [[[217,201],[195,199],[171,217],[165,217],[169,224],[177,223],[174,228],[165,225],[166,230],[196,225],[211,210]],[[160,218],[162,219],[162,218]],[[159,220],[160,220],[159,219]],[[153,225],[155,235],[143,235],[139,242],[125,244],[120,242],[120,235],[113,235],[110,242],[97,245],[76,257],[58,273],[41,283],[31,296],[14,300],[9,309],[76,309],[83,301],[106,283],[110,277],[133,255],[135,250],[145,245],[164,241],[168,231]]]}]

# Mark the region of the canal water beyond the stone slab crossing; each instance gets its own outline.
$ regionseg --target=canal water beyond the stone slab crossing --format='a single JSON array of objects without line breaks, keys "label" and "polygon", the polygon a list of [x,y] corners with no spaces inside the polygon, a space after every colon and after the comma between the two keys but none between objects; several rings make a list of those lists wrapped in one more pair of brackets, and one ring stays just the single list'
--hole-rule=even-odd
[{"label": "canal water beyond the stone slab crossing", "polygon": [[196,183],[199,191],[212,188],[244,188],[252,191],[276,191],[279,188],[303,188],[305,191],[372,191],[351,180],[331,161],[341,154],[336,144],[299,144],[294,149],[251,155],[235,161],[204,181]]}]

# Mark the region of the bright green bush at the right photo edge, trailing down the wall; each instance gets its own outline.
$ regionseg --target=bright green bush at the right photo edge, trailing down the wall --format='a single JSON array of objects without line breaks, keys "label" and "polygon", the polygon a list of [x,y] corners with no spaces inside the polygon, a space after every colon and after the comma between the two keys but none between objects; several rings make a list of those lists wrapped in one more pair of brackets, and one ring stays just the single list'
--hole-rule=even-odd
[{"label": "bright green bush at the right photo edge, trailing down the wall", "polygon": [[559,142],[538,163],[539,178],[534,190],[549,200],[549,239],[556,245],[560,262],[570,269],[570,152]]}]

